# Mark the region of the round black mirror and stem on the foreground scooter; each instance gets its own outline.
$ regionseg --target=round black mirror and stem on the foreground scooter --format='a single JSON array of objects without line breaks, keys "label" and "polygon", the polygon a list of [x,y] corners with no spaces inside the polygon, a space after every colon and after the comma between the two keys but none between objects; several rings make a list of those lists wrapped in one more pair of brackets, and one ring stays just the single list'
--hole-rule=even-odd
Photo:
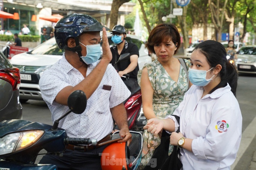
[{"label": "round black mirror and stem on the foreground scooter", "polygon": [[73,91],[67,98],[67,106],[70,108],[70,110],[54,121],[52,130],[57,130],[60,120],[66,117],[70,112],[76,114],[83,113],[86,108],[86,103],[87,99],[82,90]]}]

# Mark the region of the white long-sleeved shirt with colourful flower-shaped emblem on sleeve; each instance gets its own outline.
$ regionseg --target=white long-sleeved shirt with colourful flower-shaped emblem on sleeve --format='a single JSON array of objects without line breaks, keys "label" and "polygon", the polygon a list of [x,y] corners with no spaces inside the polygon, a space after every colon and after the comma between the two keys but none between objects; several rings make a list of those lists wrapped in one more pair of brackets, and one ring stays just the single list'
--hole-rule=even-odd
[{"label": "white long-sleeved shirt with colourful flower-shaped emblem on sleeve", "polygon": [[[180,116],[180,132],[193,139],[193,152],[181,149],[183,170],[229,170],[234,163],[241,141],[242,116],[230,90],[227,84],[201,99],[203,87],[193,85],[173,113]],[[167,118],[179,127],[175,117]]]}]

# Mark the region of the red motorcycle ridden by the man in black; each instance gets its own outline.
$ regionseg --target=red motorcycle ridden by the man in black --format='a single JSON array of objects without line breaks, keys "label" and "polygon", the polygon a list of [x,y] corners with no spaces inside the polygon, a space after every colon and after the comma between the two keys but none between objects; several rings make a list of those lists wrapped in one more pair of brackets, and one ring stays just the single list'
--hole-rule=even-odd
[{"label": "red motorcycle ridden by the man in black", "polygon": [[[117,63],[129,59],[130,53],[121,54],[118,61],[114,64],[114,68],[118,71]],[[124,74],[122,77],[129,79],[129,74]],[[124,101],[124,105],[127,112],[129,130],[143,131],[143,127],[146,125],[146,117],[144,116],[142,110],[142,97],[140,87],[131,93],[130,97]],[[114,130],[115,129],[118,129],[117,125],[115,125]]]}]

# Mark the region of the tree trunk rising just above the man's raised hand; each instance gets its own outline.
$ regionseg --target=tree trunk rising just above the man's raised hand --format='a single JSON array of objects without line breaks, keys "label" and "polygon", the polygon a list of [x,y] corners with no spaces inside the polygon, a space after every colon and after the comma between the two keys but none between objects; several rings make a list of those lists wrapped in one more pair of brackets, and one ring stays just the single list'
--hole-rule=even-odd
[{"label": "tree trunk rising just above the man's raised hand", "polygon": [[110,11],[110,29],[112,29],[117,24],[118,19],[118,9],[125,2],[129,2],[130,0],[113,0],[111,11]]}]

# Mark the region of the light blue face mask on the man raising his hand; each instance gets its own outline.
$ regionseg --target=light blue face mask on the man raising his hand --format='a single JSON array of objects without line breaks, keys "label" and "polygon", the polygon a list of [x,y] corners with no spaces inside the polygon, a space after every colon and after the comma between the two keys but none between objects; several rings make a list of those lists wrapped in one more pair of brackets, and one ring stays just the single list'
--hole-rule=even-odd
[{"label": "light blue face mask on the man raising his hand", "polygon": [[[85,46],[83,43],[79,42],[83,46]],[[91,64],[99,60],[100,55],[101,55],[101,50],[100,50],[100,44],[95,44],[95,45],[89,45],[85,46],[86,47],[86,56],[82,56],[82,60],[86,64]]]}]

